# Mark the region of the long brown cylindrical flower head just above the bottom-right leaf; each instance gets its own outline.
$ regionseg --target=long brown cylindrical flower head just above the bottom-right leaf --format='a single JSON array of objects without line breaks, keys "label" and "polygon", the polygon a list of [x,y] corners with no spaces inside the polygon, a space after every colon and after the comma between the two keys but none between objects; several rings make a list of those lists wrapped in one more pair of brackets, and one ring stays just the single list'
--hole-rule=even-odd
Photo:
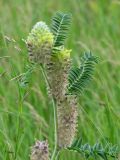
[{"label": "long brown cylindrical flower head just above the bottom-right leaf", "polygon": [[58,102],[58,146],[71,146],[77,129],[77,99],[74,96],[65,96]]}]

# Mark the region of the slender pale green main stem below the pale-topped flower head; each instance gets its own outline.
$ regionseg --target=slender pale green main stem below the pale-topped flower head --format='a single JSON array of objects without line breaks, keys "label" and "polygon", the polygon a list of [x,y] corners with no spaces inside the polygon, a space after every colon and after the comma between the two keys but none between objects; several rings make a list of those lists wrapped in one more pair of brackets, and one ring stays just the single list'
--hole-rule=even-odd
[{"label": "slender pale green main stem below the pale-topped flower head", "polygon": [[[47,79],[47,75],[45,73],[45,70],[44,70],[44,67],[43,65],[41,64],[41,70],[42,70],[42,74],[45,78],[45,81],[46,81],[46,84],[47,86],[49,87],[49,89],[51,89],[51,86],[50,86],[50,83]],[[58,155],[58,137],[57,137],[57,105],[56,105],[56,101],[54,99],[54,97],[52,96],[52,104],[53,104],[53,111],[54,111],[54,141],[55,141],[55,146],[54,146],[54,151],[52,153],[52,157],[51,157],[51,160],[55,160],[57,155]]]}]

